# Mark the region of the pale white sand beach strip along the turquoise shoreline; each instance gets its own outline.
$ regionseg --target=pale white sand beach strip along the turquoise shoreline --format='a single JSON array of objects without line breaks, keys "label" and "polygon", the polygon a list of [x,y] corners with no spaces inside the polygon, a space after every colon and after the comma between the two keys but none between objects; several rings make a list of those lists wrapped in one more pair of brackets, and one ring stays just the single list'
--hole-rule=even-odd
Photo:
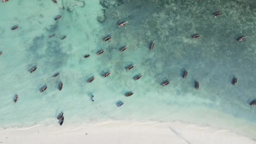
[{"label": "pale white sand beach strip along the turquoise shoreline", "polygon": [[113,121],[83,126],[34,126],[0,131],[3,144],[255,144],[229,130],[193,124]]}]

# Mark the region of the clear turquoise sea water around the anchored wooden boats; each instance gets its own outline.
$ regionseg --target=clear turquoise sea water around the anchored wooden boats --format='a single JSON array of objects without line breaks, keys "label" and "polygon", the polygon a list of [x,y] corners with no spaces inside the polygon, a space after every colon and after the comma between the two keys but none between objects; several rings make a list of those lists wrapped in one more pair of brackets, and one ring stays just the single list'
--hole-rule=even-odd
[{"label": "clear turquoise sea water around the anchored wooden boats", "polygon": [[179,120],[256,136],[255,0],[10,0],[0,11],[2,128],[58,125],[64,112],[64,125]]}]

